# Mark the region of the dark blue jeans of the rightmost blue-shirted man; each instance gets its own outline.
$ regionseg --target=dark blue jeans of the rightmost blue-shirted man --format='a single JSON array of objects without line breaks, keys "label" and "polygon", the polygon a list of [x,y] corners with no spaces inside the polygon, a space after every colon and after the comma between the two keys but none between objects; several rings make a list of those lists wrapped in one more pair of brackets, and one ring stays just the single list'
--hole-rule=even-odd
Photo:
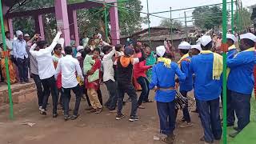
[{"label": "dark blue jeans of the rightmost blue-shirted man", "polygon": [[250,122],[250,94],[241,94],[230,90],[232,106],[238,118],[238,130]]}]

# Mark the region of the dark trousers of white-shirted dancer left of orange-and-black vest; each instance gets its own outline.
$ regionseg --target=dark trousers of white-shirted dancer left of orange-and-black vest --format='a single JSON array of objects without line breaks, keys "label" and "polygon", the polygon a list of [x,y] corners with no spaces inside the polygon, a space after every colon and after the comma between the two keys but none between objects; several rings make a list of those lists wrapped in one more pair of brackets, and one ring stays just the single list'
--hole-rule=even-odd
[{"label": "dark trousers of white-shirted dancer left of orange-and-black vest", "polygon": [[115,107],[117,106],[117,102],[118,102],[117,84],[116,84],[116,82],[113,82],[111,79],[104,82],[104,83],[105,83],[106,88],[107,88],[107,90],[109,91],[109,94],[110,94],[110,97],[106,101],[105,106],[109,110],[114,110]]}]

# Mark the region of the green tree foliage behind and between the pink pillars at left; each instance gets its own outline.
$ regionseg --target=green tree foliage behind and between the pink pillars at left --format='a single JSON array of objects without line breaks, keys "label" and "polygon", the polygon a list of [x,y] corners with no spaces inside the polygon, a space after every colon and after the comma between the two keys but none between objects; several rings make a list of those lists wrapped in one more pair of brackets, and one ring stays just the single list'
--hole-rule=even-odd
[{"label": "green tree foliage behind and between the pink pillars at left", "polygon": [[[68,0],[68,4],[85,2],[85,0]],[[46,8],[54,6],[53,0],[40,0],[40,1],[31,1],[26,4],[26,6],[21,6],[15,11],[24,11],[24,10],[34,10],[39,8]],[[118,2],[118,6],[126,7],[131,10],[142,10],[140,0],[129,0],[126,2]],[[107,10],[107,24],[110,24],[109,18],[109,6],[106,6]],[[144,20],[140,16],[140,13],[134,12],[131,10],[118,8],[118,17],[119,17],[119,26],[121,34],[132,34],[136,30],[141,29],[141,24]],[[84,32],[91,36],[94,34],[95,29],[102,30],[102,36],[105,38],[105,17],[103,7],[93,8],[90,10],[78,10],[78,28],[80,35]],[[14,30],[22,30],[24,33],[34,34],[34,18],[24,17],[24,18],[14,18]],[[45,26],[45,35],[46,40],[51,40],[54,37],[56,30],[56,19],[54,14],[44,14],[43,22]]]}]

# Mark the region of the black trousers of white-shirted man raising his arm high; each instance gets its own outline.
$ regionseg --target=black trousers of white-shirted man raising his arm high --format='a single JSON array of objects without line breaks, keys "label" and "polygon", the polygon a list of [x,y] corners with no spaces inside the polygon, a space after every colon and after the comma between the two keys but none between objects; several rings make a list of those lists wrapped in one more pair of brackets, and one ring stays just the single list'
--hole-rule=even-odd
[{"label": "black trousers of white-shirted man raising his arm high", "polygon": [[57,86],[54,75],[50,78],[42,79],[42,86],[44,90],[42,109],[46,110],[48,98],[52,96],[53,100],[53,114],[57,114],[57,105],[58,105],[58,94],[57,94]]}]

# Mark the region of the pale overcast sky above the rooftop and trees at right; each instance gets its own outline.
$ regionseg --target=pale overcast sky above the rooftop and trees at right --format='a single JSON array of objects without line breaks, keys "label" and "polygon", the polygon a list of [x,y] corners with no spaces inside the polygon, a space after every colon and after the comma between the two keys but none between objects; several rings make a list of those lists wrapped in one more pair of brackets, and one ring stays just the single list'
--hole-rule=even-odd
[{"label": "pale overcast sky above the rooftop and trees at right", "polygon": [[[230,2],[231,0],[227,0],[227,2]],[[234,0],[235,1],[235,0]],[[143,12],[146,12],[146,0],[141,0],[142,6],[143,6]],[[194,7],[194,6],[205,6],[205,5],[211,5],[216,3],[221,3],[222,0],[148,0],[149,2],[149,11],[150,13],[159,12],[159,11],[166,11],[170,10],[170,6],[172,7],[172,10],[178,10],[182,8],[187,7]],[[242,6],[251,6],[256,4],[256,0],[242,0]],[[235,7],[235,6],[234,6]],[[230,9],[230,5],[228,5],[227,9]],[[186,10],[186,17],[190,17],[192,14],[192,10]],[[142,17],[146,17],[146,14],[141,14]],[[170,18],[170,13],[164,13],[164,14],[157,14],[158,16],[164,17],[164,18]],[[184,17],[184,10],[172,12],[172,18],[179,18]],[[150,26],[158,26],[162,18],[156,18],[150,16]],[[183,22],[184,25],[184,19],[180,19],[180,21]],[[187,18],[187,21],[190,21],[190,18]],[[187,23],[188,25],[191,25],[192,23]],[[147,25],[142,25],[143,28],[146,28]]]}]

